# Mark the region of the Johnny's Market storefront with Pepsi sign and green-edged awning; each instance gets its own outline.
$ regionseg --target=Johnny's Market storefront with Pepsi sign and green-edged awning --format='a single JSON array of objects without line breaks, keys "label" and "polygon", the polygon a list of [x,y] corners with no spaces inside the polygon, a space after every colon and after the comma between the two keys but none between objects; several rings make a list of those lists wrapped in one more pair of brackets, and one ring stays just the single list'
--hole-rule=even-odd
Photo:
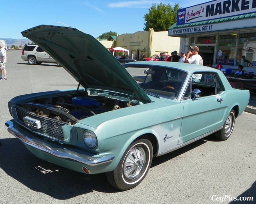
[{"label": "Johnny's Market storefront with Pepsi sign and green-edged awning", "polygon": [[199,47],[204,65],[256,74],[256,0],[215,0],[183,8],[168,36],[180,37],[180,51]]}]

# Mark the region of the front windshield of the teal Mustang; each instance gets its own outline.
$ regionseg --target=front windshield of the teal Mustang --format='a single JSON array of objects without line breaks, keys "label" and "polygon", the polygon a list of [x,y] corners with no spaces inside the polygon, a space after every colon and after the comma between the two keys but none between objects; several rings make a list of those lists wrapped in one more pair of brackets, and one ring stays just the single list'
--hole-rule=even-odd
[{"label": "front windshield of the teal Mustang", "polygon": [[177,98],[187,73],[174,68],[136,67],[125,68],[141,88],[164,98]]}]

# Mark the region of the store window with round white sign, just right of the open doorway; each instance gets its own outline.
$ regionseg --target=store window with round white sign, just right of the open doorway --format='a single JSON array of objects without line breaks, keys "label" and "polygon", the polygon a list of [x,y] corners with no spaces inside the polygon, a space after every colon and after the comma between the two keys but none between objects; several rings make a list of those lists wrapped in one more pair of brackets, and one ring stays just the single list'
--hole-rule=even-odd
[{"label": "store window with round white sign, just right of the open doorway", "polygon": [[237,34],[220,35],[217,48],[216,64],[234,65]]}]

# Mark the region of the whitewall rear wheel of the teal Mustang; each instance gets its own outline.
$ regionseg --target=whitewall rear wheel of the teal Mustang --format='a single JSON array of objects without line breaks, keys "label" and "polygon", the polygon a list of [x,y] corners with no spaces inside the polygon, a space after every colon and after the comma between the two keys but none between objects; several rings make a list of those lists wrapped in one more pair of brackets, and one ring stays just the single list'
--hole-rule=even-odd
[{"label": "whitewall rear wheel of the teal Mustang", "polygon": [[225,124],[223,125],[223,128],[215,133],[215,136],[219,140],[224,141],[229,138],[229,136],[231,135],[231,133],[234,129],[235,118],[236,118],[235,111],[231,110],[230,113],[228,114],[228,118],[227,118]]}]

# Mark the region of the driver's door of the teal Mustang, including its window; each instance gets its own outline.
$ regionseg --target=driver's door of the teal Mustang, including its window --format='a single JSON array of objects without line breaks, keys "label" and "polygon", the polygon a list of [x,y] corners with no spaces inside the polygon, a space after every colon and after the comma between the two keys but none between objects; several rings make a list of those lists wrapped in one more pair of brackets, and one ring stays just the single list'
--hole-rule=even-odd
[{"label": "driver's door of the teal Mustang, including its window", "polygon": [[[222,109],[221,96],[216,94],[214,73],[196,73],[201,75],[200,82],[194,82],[193,75],[181,103],[184,107],[184,118],[178,144],[188,142],[196,137],[212,132],[219,126]],[[193,89],[201,91],[201,97],[193,100]]]}]

